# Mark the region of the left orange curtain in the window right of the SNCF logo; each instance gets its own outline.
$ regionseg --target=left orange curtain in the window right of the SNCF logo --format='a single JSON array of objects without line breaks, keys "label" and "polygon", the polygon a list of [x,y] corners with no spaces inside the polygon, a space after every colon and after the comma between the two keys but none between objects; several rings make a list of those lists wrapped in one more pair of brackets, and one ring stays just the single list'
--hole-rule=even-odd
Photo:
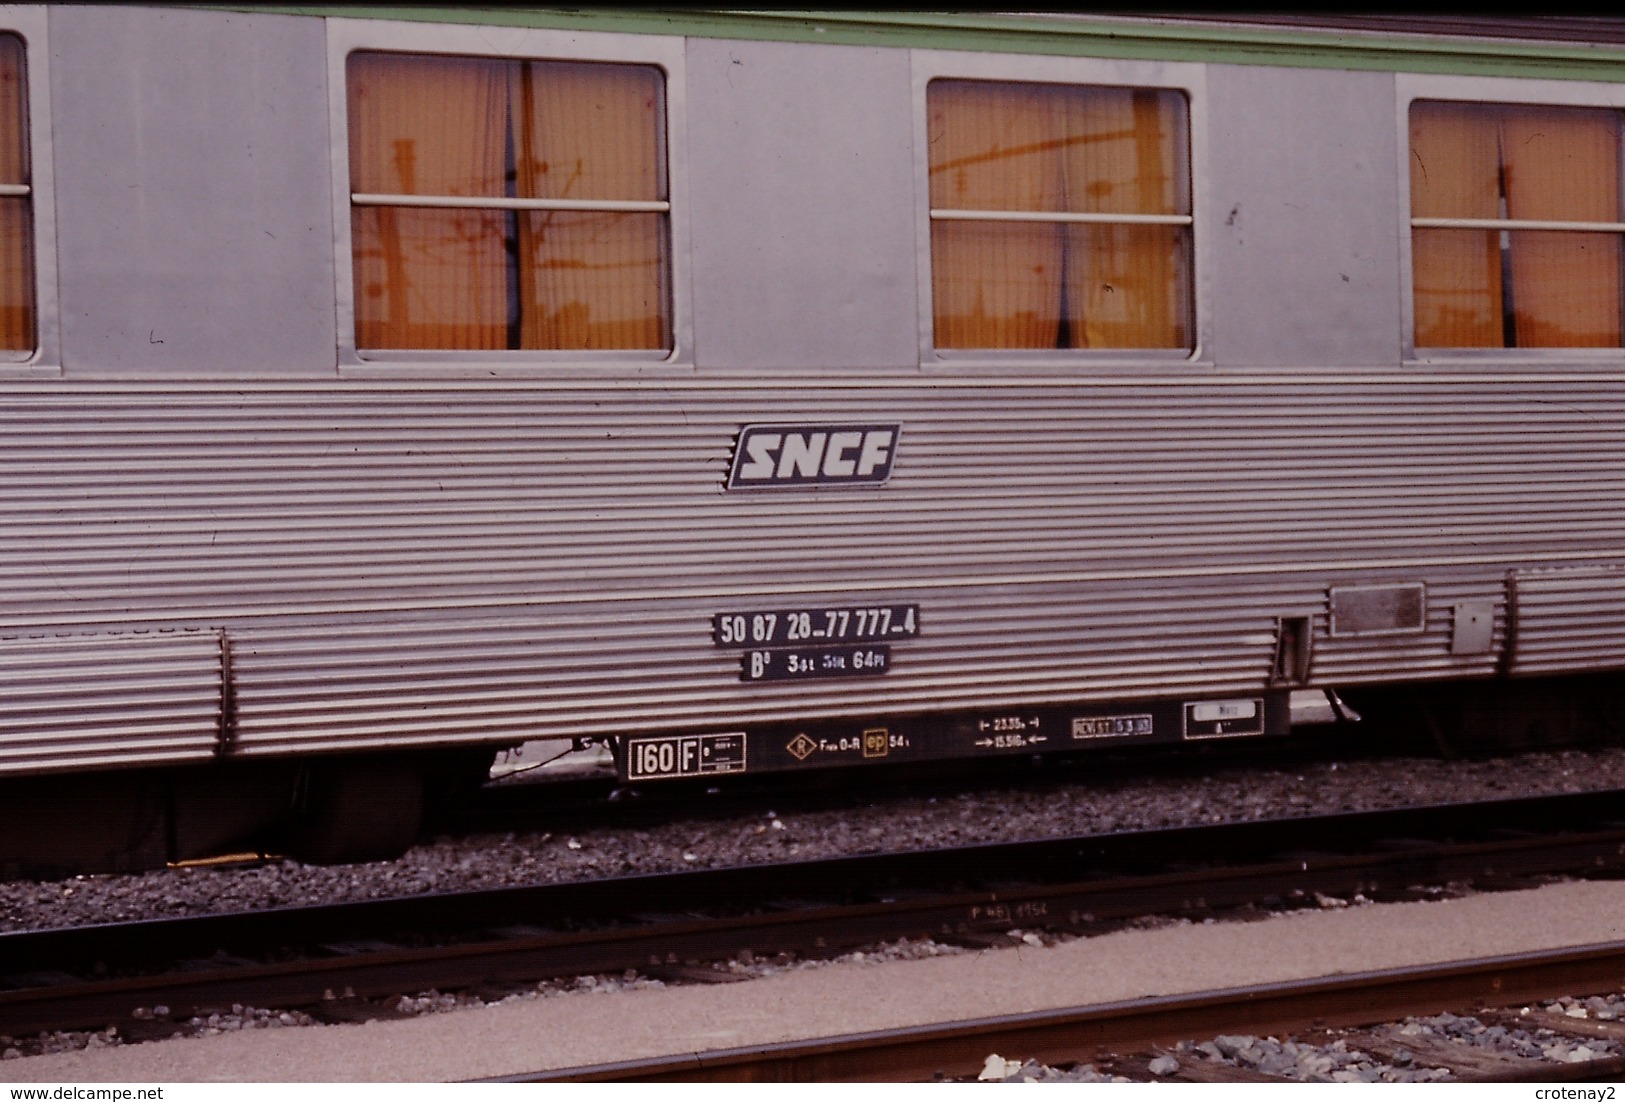
[{"label": "left orange curtain in the window right of the SNCF logo", "polygon": [[[1024,85],[939,81],[928,96],[931,206],[1058,211],[1060,122]],[[938,348],[1055,348],[1064,231],[1055,223],[931,223]]]}]

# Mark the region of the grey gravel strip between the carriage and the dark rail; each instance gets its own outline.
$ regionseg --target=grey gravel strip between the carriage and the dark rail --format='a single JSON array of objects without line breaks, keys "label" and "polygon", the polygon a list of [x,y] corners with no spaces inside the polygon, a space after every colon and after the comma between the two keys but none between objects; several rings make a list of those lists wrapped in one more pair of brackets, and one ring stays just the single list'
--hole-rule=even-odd
[{"label": "grey gravel strip between the carriage and the dark rail", "polygon": [[622,822],[606,821],[570,834],[434,839],[398,861],[340,866],[275,861],[257,868],[0,883],[0,930],[1599,788],[1625,788],[1625,749],[1454,762],[1321,761],[1292,769],[1227,767],[1207,775],[1134,777],[1118,770],[1098,783],[1043,783],[796,814],[765,809],[656,824],[640,824],[635,809],[629,809]]}]

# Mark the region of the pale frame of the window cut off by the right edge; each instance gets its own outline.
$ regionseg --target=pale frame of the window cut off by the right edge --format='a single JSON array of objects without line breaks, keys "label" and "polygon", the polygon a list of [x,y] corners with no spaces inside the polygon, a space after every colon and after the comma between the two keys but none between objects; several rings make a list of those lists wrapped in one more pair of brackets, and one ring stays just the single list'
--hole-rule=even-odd
[{"label": "pale frame of the window cut off by the right edge", "polygon": [[[1625,85],[1566,80],[1526,80],[1511,76],[1438,76],[1396,73],[1394,111],[1399,169],[1399,323],[1401,358],[1407,366],[1450,364],[1596,364],[1617,367],[1625,359],[1625,343],[1617,348],[1445,348],[1417,346],[1415,268],[1412,234],[1415,215],[1410,206],[1410,109],[1417,101],[1461,102],[1488,107],[1597,107],[1625,114]],[[1625,128],[1625,124],[1622,124]],[[1625,203],[1625,141],[1620,143],[1620,200]],[[1625,213],[1615,232],[1625,242]],[[1604,231],[1607,232],[1607,231]],[[1620,283],[1625,309],[1625,275]]]}]

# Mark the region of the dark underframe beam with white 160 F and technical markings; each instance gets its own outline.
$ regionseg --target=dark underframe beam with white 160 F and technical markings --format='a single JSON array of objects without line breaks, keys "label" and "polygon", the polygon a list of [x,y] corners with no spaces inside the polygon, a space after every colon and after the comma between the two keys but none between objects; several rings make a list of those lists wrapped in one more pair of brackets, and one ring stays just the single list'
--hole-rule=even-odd
[{"label": "dark underframe beam with white 160 F and technical markings", "polygon": [[[622,779],[905,764],[1285,735],[1292,728],[1290,699],[1290,692],[1277,691],[1126,705],[1001,709],[869,723],[804,723],[708,736],[739,740],[730,743],[726,753],[712,751],[710,757],[700,746],[689,748],[694,736],[634,738],[622,756],[629,770]],[[743,764],[736,764],[736,756],[743,756]]]}]

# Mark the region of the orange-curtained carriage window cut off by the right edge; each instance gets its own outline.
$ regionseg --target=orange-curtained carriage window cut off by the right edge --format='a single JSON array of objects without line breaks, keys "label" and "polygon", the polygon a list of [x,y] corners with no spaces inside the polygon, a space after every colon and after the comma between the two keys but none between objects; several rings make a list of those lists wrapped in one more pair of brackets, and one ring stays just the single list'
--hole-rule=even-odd
[{"label": "orange-curtained carriage window cut off by the right edge", "polygon": [[1620,112],[1414,102],[1419,348],[1620,346]]}]

